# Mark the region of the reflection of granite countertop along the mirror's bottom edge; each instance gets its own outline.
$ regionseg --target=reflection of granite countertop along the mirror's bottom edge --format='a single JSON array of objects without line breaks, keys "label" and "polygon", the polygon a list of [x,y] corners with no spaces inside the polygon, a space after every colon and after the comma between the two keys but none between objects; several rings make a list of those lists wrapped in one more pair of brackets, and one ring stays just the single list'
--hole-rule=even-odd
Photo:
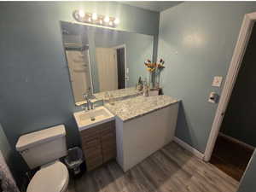
[{"label": "reflection of granite countertop along the mirror's bottom edge", "polygon": [[96,96],[96,100],[108,100],[109,98],[105,97],[106,92],[108,92],[113,96],[114,101],[119,101],[119,100],[130,98],[133,96],[140,96],[143,94],[143,91],[138,91],[135,89],[135,87],[129,87],[129,88],[120,89],[120,90],[103,91],[103,92],[95,93],[93,95]]}]

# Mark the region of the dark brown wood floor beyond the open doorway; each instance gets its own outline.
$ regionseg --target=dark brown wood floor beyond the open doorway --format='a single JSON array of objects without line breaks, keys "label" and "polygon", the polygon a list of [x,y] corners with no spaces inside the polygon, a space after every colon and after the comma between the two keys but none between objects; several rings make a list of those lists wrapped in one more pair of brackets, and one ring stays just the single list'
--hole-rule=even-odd
[{"label": "dark brown wood floor beyond the open doorway", "polygon": [[210,162],[230,177],[240,181],[252,154],[253,149],[219,135]]}]

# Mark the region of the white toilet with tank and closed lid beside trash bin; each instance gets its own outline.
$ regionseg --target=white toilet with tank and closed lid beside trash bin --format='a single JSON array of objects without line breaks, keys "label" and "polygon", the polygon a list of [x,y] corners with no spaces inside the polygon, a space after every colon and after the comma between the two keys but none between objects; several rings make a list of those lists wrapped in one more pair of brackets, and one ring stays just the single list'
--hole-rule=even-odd
[{"label": "white toilet with tank and closed lid beside trash bin", "polygon": [[64,125],[21,136],[16,149],[30,169],[40,166],[26,192],[67,192],[67,167],[59,161],[59,158],[67,155]]}]

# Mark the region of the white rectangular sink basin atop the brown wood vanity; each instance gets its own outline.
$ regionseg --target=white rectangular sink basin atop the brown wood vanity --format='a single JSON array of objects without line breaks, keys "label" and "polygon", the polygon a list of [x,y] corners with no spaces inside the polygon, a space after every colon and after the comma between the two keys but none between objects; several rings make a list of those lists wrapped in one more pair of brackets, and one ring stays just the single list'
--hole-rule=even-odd
[{"label": "white rectangular sink basin atop the brown wood vanity", "polygon": [[79,126],[79,131],[114,119],[114,115],[104,107],[73,113],[73,116],[76,119],[77,125]]}]

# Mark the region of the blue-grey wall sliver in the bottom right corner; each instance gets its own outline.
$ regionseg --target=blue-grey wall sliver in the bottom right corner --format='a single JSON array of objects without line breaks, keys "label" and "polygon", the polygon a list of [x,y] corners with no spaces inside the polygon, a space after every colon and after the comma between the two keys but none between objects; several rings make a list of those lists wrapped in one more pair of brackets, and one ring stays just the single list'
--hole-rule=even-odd
[{"label": "blue-grey wall sliver in the bottom right corner", "polygon": [[256,151],[254,151],[252,159],[250,160],[247,170],[241,178],[241,183],[237,192],[253,192],[256,189],[255,183],[256,173]]}]

